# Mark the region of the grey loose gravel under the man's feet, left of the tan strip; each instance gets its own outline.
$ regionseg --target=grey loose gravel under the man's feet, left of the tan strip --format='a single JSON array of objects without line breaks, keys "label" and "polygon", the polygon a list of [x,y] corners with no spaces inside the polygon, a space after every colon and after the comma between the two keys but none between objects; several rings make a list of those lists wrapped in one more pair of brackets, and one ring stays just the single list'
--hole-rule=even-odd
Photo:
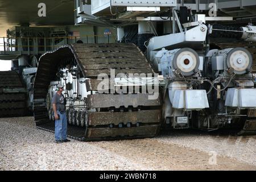
[{"label": "grey loose gravel under the man's feet, left of the tan strip", "polygon": [[34,118],[0,119],[0,170],[146,170],[90,142],[54,143]]}]

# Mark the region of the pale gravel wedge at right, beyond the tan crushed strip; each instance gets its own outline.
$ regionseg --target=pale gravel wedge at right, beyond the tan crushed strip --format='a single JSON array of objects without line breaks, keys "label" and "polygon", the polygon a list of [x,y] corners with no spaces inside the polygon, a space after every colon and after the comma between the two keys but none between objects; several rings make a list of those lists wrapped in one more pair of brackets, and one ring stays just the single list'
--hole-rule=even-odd
[{"label": "pale gravel wedge at right, beyond the tan crushed strip", "polygon": [[253,164],[256,169],[256,137],[232,135],[209,135],[189,132],[162,134],[154,139],[159,142],[177,144],[203,152],[213,152],[240,162]]}]

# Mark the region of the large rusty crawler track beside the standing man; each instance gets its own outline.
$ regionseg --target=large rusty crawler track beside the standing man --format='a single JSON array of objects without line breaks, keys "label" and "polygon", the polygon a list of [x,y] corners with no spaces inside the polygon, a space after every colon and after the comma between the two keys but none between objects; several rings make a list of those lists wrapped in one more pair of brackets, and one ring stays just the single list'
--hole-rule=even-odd
[{"label": "large rusty crawler track beside the standing man", "polygon": [[[86,89],[96,91],[100,73],[152,73],[150,64],[134,44],[74,44],[40,57],[34,87],[34,115],[39,129],[53,131],[48,119],[46,96],[49,82],[63,59],[75,59],[86,80]],[[110,79],[110,83],[113,80]],[[78,140],[112,140],[154,137],[160,127],[160,98],[148,100],[148,93],[88,95],[85,127],[68,126],[68,135]],[[114,108],[114,109],[113,109]],[[96,111],[90,111],[96,110]],[[81,131],[84,131],[82,133]]]}]

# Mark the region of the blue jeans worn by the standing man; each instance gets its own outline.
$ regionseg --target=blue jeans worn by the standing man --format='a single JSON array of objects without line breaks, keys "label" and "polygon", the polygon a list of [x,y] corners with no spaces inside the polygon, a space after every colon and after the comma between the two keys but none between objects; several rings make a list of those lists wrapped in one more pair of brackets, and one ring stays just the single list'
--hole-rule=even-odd
[{"label": "blue jeans worn by the standing man", "polygon": [[57,114],[60,115],[60,118],[55,120],[55,140],[65,140],[67,139],[67,116],[65,112],[61,114],[60,111],[57,111]]}]

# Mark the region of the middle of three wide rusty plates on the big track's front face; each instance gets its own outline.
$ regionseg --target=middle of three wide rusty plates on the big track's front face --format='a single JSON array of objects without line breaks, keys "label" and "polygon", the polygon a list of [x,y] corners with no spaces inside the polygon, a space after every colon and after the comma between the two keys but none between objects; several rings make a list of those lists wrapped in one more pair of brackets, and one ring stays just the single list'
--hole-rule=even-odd
[{"label": "middle of three wide rusty plates on the big track's front face", "polygon": [[127,112],[100,112],[89,113],[88,125],[118,125],[123,123],[137,122],[141,123],[159,123],[160,110],[141,110],[141,111],[127,111]]}]

